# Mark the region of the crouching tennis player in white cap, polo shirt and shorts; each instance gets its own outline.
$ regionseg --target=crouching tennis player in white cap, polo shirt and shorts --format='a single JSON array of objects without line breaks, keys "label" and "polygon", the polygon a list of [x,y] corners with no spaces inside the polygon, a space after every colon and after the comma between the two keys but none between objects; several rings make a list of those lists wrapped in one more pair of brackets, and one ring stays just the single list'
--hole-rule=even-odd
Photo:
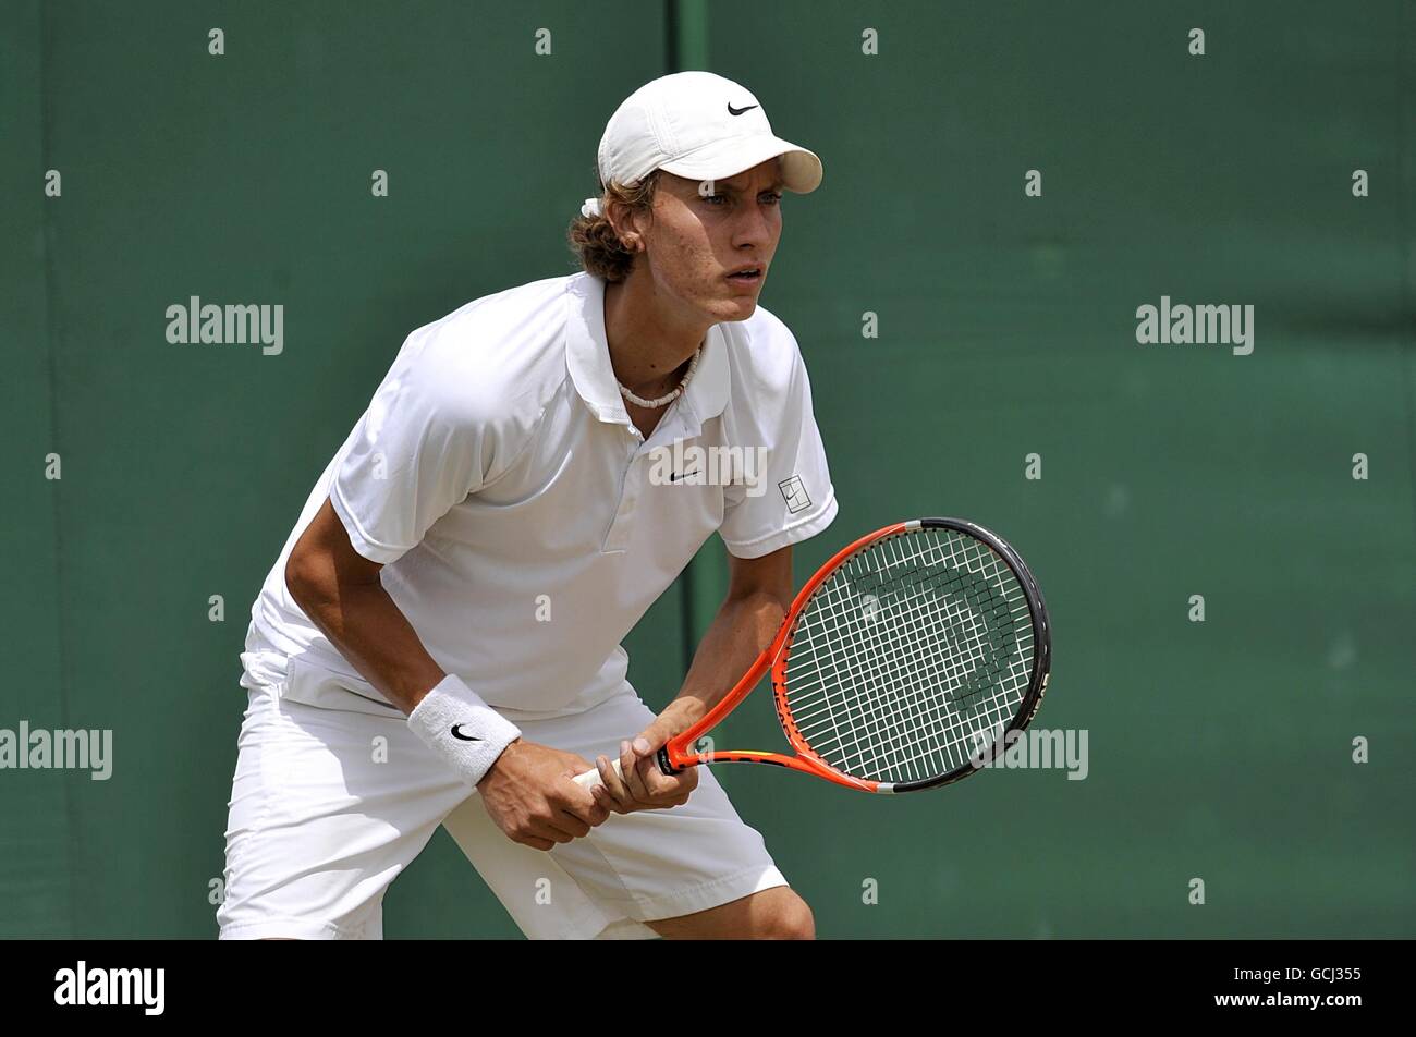
[{"label": "crouching tennis player in white cap, polo shirt and shorts", "polygon": [[[835,516],[801,354],[758,306],[782,190],[821,163],[681,72],[598,166],[583,272],[413,332],[265,581],[222,938],[379,938],[438,824],[532,938],[814,935],[712,774],[654,752],[770,642],[792,544]],[[728,594],[656,714],[620,640],[715,531]]]}]

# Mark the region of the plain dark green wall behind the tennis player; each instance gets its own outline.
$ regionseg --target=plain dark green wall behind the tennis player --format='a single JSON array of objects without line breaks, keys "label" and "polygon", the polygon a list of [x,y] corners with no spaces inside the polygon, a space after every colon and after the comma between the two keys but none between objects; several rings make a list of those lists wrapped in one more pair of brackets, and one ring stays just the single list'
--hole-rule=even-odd
[{"label": "plain dark green wall behind the tennis player", "polygon": [[[573,271],[605,120],[674,67],[826,164],[763,295],[841,500],[799,578],[896,518],[994,527],[1054,615],[1038,724],[1089,734],[1085,781],[898,800],[721,768],[820,932],[1416,935],[1413,54],[1399,0],[4,0],[0,728],[115,762],[0,771],[0,936],[215,934],[236,653],[309,486],[409,330]],[[283,353],[169,344],[193,295],[283,303]],[[1137,344],[1163,295],[1252,305],[1253,353]],[[651,704],[721,588],[715,541],[632,635]],[[722,738],[776,748],[755,706]],[[517,935],[443,833],[385,931]]]}]

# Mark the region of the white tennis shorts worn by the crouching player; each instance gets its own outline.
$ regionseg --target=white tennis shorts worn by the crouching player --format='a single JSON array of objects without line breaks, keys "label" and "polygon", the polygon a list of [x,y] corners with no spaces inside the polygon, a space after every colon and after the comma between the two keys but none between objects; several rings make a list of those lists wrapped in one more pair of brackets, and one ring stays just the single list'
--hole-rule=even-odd
[{"label": "white tennis shorts worn by the crouching player", "polygon": [[[582,839],[532,850],[507,839],[401,714],[327,710],[270,688],[251,688],[248,703],[217,910],[222,939],[379,939],[389,883],[438,824],[532,939],[651,938],[646,921],[786,885],[709,768],[684,806],[610,815]],[[573,717],[517,725],[527,741],[593,761],[653,718],[626,686]]]}]

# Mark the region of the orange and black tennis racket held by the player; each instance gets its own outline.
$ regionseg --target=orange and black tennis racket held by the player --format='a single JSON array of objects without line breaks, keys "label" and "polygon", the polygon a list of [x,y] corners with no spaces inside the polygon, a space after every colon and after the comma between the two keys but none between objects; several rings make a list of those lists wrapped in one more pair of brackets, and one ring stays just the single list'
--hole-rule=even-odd
[{"label": "orange and black tennis racket held by the player", "polygon": [[[806,582],[752,669],[658,766],[776,764],[882,793],[949,785],[1032,721],[1051,654],[1042,592],[1001,537],[960,518],[896,523]],[[769,670],[794,755],[695,752]],[[575,781],[593,788],[599,771]]]}]

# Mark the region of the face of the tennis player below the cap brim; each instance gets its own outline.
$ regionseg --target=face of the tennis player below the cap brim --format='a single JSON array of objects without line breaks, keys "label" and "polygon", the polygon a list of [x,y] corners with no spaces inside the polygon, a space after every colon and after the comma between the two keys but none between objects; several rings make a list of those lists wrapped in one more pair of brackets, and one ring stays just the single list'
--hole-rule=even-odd
[{"label": "face of the tennis player below the cap brim", "polygon": [[[782,237],[779,166],[770,159],[708,181],[660,173],[654,217],[644,225],[646,271],[657,292],[714,323],[752,316]],[[749,264],[756,276],[731,276]]]}]

